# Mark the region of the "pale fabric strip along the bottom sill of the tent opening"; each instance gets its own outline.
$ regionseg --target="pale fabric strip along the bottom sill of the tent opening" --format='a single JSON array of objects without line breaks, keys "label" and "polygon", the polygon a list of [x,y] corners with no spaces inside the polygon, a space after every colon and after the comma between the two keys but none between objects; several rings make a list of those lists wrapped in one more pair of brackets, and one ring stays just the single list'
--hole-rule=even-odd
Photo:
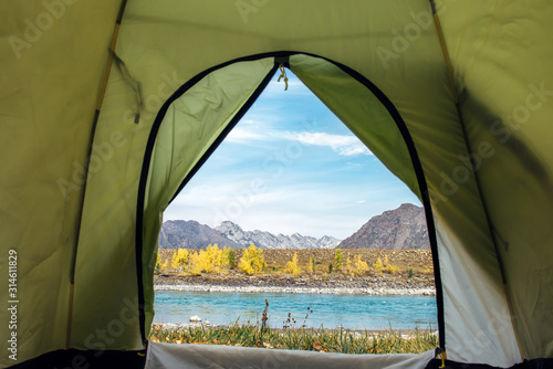
[{"label": "pale fabric strip along the bottom sill of the tent opening", "polygon": [[434,351],[396,355],[347,355],[271,350],[217,345],[148,345],[146,369],[158,368],[383,368],[422,369]]}]

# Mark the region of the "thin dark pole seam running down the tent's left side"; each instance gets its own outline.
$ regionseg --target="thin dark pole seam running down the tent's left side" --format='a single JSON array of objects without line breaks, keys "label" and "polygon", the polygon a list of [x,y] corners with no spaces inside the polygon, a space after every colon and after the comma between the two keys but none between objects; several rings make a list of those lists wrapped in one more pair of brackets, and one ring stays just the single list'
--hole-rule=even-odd
[{"label": "thin dark pole seam running down the tent's left side", "polygon": [[117,36],[119,34],[121,20],[123,18],[123,13],[125,11],[126,3],[127,3],[127,0],[121,1],[119,10],[117,13],[117,19],[115,21],[115,27],[114,27],[113,34],[112,34],[112,41],[109,43],[109,50],[108,50],[108,54],[107,54],[107,65],[105,68],[104,78],[102,81],[102,87],[100,89],[98,103],[96,105],[96,110],[94,112],[94,119],[92,122],[88,154],[86,156],[86,164],[84,166],[86,168],[86,170],[85,170],[85,175],[84,175],[84,184],[83,184],[83,190],[82,190],[82,194],[81,194],[81,212],[79,213],[79,218],[77,218],[77,222],[76,222],[76,236],[75,236],[75,244],[73,246],[73,255],[72,255],[72,260],[71,260],[71,271],[70,271],[67,331],[66,331],[66,336],[65,336],[65,348],[67,348],[67,349],[71,348],[71,330],[72,330],[72,325],[73,325],[73,302],[74,302],[74,296],[75,296],[76,254],[77,254],[77,250],[79,250],[79,242],[81,239],[81,225],[82,225],[82,221],[83,221],[84,199],[85,199],[85,193],[86,193],[86,183],[88,182],[88,168],[91,165],[94,136],[96,134],[96,126],[97,126],[98,118],[100,118],[100,112],[102,110],[102,104],[104,103],[105,92],[107,89],[107,81],[109,80],[109,73],[112,70],[112,64],[113,64],[114,53],[115,53],[115,45],[117,44]]}]

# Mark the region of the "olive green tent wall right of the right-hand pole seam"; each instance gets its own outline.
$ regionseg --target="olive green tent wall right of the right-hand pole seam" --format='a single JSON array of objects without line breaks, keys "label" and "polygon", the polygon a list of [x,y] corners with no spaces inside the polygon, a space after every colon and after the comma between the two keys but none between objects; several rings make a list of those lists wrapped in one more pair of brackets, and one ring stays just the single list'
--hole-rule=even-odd
[{"label": "olive green tent wall right of the right-hand pole seam", "polygon": [[460,108],[522,348],[552,357],[553,6],[473,1],[463,17],[449,8],[441,18]]}]

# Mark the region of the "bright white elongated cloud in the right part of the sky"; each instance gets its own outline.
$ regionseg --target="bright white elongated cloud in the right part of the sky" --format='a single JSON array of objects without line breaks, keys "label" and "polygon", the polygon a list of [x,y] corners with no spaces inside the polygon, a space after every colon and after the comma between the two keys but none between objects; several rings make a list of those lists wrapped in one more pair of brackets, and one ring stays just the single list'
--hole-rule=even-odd
[{"label": "bright white elongated cloud in the right part of the sky", "polygon": [[342,156],[373,155],[355,136],[326,133],[292,133],[286,138],[303,145],[326,146]]}]

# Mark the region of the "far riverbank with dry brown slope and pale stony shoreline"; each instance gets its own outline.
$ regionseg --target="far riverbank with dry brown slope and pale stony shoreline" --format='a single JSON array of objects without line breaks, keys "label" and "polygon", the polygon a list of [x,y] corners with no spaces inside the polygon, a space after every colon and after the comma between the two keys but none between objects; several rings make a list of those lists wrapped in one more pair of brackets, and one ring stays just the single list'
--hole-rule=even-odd
[{"label": "far riverbank with dry brown slope and pale stony shoreline", "polygon": [[[190,252],[197,252],[190,250]],[[355,295],[435,295],[430,250],[343,250],[343,260],[366,261],[368,271],[349,275],[332,270],[335,250],[263,250],[267,267],[260,274],[248,275],[237,267],[222,273],[192,274],[171,265],[175,250],[159,250],[160,264],[168,265],[155,275],[158,291],[302,293]],[[243,250],[236,250],[240,260]],[[299,275],[285,273],[286,263],[298,256]],[[378,272],[377,261],[386,261],[393,271]],[[310,265],[314,264],[310,268]],[[311,272],[310,272],[311,271]]]}]

